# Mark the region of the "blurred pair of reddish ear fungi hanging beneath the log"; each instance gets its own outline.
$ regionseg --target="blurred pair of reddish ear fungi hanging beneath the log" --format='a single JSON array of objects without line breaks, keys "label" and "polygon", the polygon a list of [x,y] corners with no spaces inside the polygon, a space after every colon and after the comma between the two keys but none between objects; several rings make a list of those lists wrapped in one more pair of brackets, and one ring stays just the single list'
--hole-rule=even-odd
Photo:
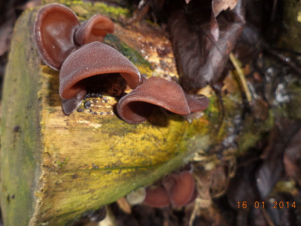
[{"label": "blurred pair of reddish ear fungi hanging beneath the log", "polygon": [[151,207],[166,207],[169,204],[181,207],[194,201],[196,196],[194,177],[185,170],[167,175],[162,180],[162,186],[149,187],[144,202]]}]

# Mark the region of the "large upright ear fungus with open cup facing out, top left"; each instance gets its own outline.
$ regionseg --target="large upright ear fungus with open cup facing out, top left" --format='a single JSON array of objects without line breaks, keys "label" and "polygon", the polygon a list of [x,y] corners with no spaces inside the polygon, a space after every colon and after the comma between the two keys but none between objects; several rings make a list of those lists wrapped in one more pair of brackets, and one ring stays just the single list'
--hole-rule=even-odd
[{"label": "large upright ear fungus with open cup facing out, top left", "polygon": [[79,26],[76,15],[63,5],[50,4],[39,10],[33,37],[40,55],[51,68],[60,70],[67,56],[78,48],[73,37]]}]

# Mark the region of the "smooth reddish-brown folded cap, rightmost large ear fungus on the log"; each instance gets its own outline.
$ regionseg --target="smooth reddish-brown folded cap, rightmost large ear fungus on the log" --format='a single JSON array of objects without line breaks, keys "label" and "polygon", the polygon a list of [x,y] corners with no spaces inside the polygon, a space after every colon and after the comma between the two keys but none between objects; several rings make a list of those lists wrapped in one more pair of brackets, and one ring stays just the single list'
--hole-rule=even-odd
[{"label": "smooth reddish-brown folded cap, rightmost large ear fungus on the log", "polygon": [[117,112],[125,122],[140,123],[150,117],[155,105],[180,115],[190,113],[182,87],[158,77],[149,78],[122,97]]}]

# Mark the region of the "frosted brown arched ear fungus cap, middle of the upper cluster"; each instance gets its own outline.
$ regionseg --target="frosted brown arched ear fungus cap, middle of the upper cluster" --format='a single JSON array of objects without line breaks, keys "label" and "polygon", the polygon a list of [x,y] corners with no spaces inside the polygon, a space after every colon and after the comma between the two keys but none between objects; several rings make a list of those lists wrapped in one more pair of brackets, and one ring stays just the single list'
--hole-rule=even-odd
[{"label": "frosted brown arched ear fungus cap, middle of the upper cluster", "polygon": [[140,82],[139,70],[125,56],[114,48],[92,42],[71,53],[60,70],[59,93],[63,99],[71,99],[85,87],[84,78],[105,73],[119,73],[130,88]]}]

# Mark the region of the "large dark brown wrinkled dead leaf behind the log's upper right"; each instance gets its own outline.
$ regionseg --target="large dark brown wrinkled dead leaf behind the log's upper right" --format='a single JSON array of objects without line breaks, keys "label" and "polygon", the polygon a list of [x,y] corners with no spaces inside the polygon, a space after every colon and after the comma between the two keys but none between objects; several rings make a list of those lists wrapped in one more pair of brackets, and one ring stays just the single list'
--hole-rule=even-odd
[{"label": "large dark brown wrinkled dead leaf behind the log's upper right", "polygon": [[220,35],[210,33],[211,1],[192,1],[174,10],[168,19],[181,83],[187,87],[213,85],[225,70],[244,25],[244,7],[239,0],[232,11],[217,18]]}]

